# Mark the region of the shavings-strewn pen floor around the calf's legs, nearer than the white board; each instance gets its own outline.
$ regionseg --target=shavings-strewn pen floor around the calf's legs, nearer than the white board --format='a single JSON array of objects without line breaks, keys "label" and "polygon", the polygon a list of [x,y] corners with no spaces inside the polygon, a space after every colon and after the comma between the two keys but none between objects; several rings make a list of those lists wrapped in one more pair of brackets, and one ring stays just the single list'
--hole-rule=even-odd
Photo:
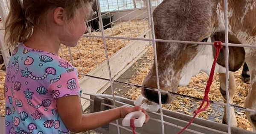
[{"label": "shavings-strewn pen floor around the calf's legs, nearer than the white board", "polygon": [[[151,65],[153,63],[153,51],[149,48],[148,52],[143,55],[136,63],[134,63],[131,68],[129,68],[121,77],[119,81],[142,85],[142,81],[146,74],[148,73]],[[244,99],[248,94],[248,89],[250,88],[250,83],[243,83],[241,81],[241,69],[234,73],[236,77],[236,95],[234,97],[234,104],[239,106],[244,106]],[[192,77],[191,82],[186,87],[179,87],[179,94],[186,94],[193,97],[202,98],[204,96],[204,88],[207,84],[208,76],[204,72],[200,72],[195,77]],[[114,94],[129,98],[131,100],[136,100],[140,96],[140,89],[135,87],[130,87],[120,83],[114,83]],[[215,74],[214,80],[212,82],[211,90],[209,92],[209,99],[223,102],[222,96],[219,92],[219,82],[218,74]],[[105,94],[111,94],[111,88],[105,91]],[[198,108],[201,101],[195,101],[193,99],[184,98],[177,96],[176,99],[170,105],[163,105],[163,108],[176,111],[183,114],[192,115],[193,111]],[[236,119],[238,122],[238,127],[252,131],[250,123],[247,121],[244,111],[235,108]],[[207,111],[198,114],[198,117],[207,120],[215,121],[218,123],[222,122],[222,117],[224,114],[224,106],[210,104]]]}]

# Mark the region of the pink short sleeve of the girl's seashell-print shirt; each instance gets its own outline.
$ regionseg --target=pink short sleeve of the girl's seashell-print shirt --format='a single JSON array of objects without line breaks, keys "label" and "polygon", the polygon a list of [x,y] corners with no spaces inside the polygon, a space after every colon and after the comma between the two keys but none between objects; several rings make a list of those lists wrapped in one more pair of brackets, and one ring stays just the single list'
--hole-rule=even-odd
[{"label": "pink short sleeve of the girl's seashell-print shirt", "polygon": [[54,99],[69,95],[79,96],[79,88],[79,79],[76,71],[64,71],[61,75],[52,79],[49,86]]}]

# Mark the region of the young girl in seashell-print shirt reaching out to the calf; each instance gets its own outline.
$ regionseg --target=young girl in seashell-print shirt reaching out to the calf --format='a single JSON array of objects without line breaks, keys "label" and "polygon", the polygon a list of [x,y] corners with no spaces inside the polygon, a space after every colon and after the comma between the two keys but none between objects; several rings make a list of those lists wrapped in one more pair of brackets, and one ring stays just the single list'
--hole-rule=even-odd
[{"label": "young girl in seashell-print shirt reaching out to the calf", "polygon": [[5,38],[15,49],[6,71],[6,134],[81,132],[141,109],[81,112],[77,70],[58,49],[76,46],[90,11],[90,0],[10,0]]}]

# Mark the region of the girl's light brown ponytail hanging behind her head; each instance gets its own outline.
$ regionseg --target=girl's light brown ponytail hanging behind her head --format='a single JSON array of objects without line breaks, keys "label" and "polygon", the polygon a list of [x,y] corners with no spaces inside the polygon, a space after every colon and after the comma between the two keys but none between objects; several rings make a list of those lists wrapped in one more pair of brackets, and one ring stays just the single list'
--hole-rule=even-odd
[{"label": "girl's light brown ponytail hanging behind her head", "polygon": [[28,22],[25,15],[23,0],[10,0],[10,11],[5,23],[5,43],[15,47],[32,35],[32,23]]}]

